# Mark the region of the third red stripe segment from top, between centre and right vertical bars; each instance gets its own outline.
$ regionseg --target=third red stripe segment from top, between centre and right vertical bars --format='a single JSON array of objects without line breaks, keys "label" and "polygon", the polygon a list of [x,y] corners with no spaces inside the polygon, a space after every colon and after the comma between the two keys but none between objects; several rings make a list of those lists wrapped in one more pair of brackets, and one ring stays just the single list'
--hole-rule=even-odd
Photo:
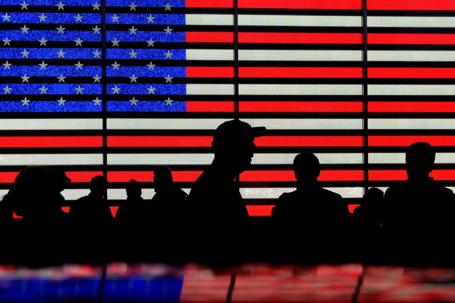
[{"label": "third red stripe segment from top, between centre and right vertical bars", "polygon": [[239,77],[361,78],[363,77],[363,69],[360,67],[239,67]]}]

